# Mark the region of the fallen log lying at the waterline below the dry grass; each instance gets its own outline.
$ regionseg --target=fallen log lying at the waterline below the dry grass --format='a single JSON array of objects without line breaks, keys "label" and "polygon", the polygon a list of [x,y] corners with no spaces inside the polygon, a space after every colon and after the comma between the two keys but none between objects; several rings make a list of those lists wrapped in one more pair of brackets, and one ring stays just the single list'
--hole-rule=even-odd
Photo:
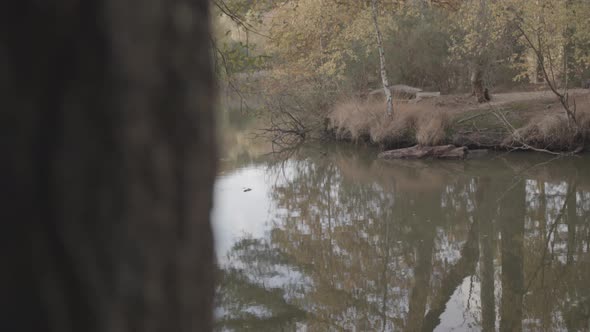
[{"label": "fallen log lying at the waterline below the dry grass", "polygon": [[378,157],[381,159],[464,159],[467,156],[467,151],[464,146],[416,145],[411,148],[384,151]]}]

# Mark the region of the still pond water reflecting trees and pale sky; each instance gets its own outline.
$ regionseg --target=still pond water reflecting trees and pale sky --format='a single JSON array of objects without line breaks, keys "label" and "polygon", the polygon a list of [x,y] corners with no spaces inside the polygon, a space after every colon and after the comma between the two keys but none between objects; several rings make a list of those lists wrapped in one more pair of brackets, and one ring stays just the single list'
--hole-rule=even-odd
[{"label": "still pond water reflecting trees and pale sky", "polygon": [[590,329],[590,157],[246,141],[215,185],[218,330]]}]

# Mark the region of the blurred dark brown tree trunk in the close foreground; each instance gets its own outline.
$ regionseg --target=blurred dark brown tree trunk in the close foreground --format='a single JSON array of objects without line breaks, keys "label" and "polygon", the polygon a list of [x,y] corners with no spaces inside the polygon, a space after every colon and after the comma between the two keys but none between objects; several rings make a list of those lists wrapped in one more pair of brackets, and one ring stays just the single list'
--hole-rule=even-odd
[{"label": "blurred dark brown tree trunk in the close foreground", "polygon": [[206,331],[207,0],[5,1],[2,331]]}]

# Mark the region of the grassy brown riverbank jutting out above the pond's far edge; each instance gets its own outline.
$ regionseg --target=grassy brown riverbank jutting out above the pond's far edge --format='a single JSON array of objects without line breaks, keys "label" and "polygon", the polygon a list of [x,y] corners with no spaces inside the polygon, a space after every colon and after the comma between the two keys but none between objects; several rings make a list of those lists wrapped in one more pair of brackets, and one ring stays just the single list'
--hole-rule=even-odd
[{"label": "grassy brown riverbank jutting out above the pond's far edge", "polygon": [[329,130],[337,140],[382,149],[453,144],[469,148],[573,151],[590,143],[590,90],[570,91],[576,101],[578,134],[551,91],[492,95],[478,104],[468,95],[397,101],[394,115],[379,100],[347,100],[334,106]]}]

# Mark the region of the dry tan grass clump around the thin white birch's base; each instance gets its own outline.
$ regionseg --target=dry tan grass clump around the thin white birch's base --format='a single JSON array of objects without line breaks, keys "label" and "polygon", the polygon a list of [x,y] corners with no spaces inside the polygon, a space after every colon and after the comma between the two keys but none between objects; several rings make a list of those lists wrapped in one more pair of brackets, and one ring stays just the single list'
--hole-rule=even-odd
[{"label": "dry tan grass clump around the thin white birch's base", "polygon": [[339,138],[370,139],[376,144],[404,142],[439,145],[444,143],[449,116],[433,103],[395,103],[394,115],[385,113],[379,100],[347,100],[330,113],[331,128]]}]

